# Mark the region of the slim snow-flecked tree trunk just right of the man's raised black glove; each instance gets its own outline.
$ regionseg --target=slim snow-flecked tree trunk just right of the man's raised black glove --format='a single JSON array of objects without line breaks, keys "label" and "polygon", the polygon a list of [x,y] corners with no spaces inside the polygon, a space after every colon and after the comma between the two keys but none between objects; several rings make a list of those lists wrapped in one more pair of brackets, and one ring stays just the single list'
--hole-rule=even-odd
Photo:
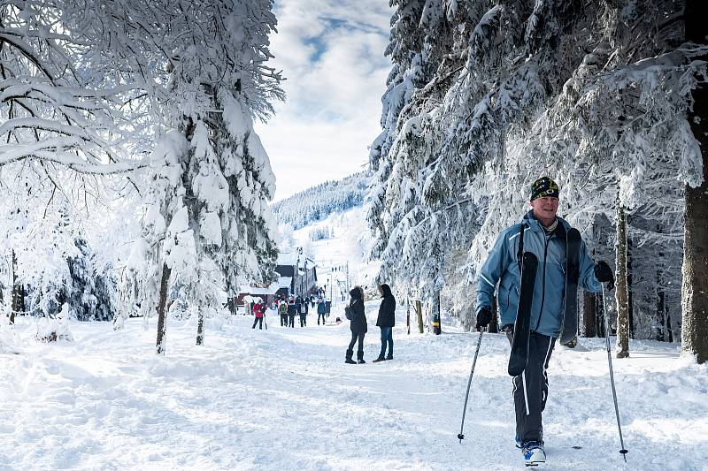
[{"label": "slim snow-flecked tree trunk just right of the man's raised black glove", "polygon": [[627,213],[617,202],[617,358],[629,356],[629,296],[627,290]]}]

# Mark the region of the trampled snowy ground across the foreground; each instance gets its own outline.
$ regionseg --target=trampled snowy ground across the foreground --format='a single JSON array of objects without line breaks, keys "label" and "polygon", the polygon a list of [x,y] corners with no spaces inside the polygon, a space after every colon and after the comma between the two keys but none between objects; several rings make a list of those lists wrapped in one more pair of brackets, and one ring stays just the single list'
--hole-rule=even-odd
[{"label": "trampled snowy ground across the foreground", "polygon": [[[378,352],[375,306],[367,361]],[[482,341],[458,444],[476,334],[406,336],[401,310],[394,361],[345,365],[346,325],[269,321],[250,330],[252,317],[236,316],[202,347],[194,325],[172,321],[158,357],[152,323],[73,323],[72,343],[42,345],[20,319],[22,353],[0,353],[0,469],[523,468],[501,335]],[[657,342],[614,361],[624,465],[604,342],[581,343],[550,361],[544,468],[708,469],[706,366]]]}]

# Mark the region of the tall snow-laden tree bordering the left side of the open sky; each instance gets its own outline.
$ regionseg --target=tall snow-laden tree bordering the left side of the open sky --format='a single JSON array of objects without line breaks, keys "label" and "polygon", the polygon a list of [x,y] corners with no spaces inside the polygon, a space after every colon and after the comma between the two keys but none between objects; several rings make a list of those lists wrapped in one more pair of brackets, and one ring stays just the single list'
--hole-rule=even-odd
[{"label": "tall snow-laden tree bordering the left side of the open sky", "polygon": [[[114,52],[136,71],[154,74],[146,83],[165,84],[150,92],[165,100],[153,111],[169,131],[151,156],[143,234],[131,257],[133,267],[145,257],[142,279],[155,280],[146,285],[142,309],[158,306],[158,352],[164,352],[171,282],[184,286],[196,310],[201,344],[204,311],[220,308],[225,290],[233,294],[242,278],[273,276],[267,201],[274,177],[252,125],[283,97],[280,75],[265,65],[272,6],[271,0],[165,0],[124,2],[111,12],[110,28],[123,42],[114,43]],[[135,18],[150,18],[151,29],[136,28]],[[142,56],[131,62],[127,55],[135,50]],[[160,66],[146,70],[149,64]]]}]

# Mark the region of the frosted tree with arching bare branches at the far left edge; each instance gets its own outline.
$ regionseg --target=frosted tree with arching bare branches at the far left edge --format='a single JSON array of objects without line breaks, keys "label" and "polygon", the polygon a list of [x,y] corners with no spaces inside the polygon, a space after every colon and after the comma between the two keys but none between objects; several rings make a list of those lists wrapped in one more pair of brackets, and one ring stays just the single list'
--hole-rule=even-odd
[{"label": "frosted tree with arching bare branches at the far left edge", "polygon": [[73,239],[83,221],[96,221],[105,186],[115,181],[105,175],[135,166],[144,143],[135,130],[149,128],[139,110],[144,96],[100,53],[105,38],[72,21],[70,12],[85,6],[0,5],[0,210],[7,216],[0,233],[12,260],[13,312],[26,310],[23,286],[34,287],[30,306],[54,309]]}]

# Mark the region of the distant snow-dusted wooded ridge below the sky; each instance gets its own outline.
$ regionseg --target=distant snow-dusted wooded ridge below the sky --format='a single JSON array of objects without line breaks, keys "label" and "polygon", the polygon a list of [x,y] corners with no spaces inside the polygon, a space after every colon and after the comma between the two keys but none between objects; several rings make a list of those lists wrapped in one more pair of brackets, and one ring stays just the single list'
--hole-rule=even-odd
[{"label": "distant snow-dusted wooded ridge below the sky", "polygon": [[334,212],[363,204],[368,185],[366,171],[346,179],[326,181],[273,204],[273,215],[280,224],[299,229]]}]

